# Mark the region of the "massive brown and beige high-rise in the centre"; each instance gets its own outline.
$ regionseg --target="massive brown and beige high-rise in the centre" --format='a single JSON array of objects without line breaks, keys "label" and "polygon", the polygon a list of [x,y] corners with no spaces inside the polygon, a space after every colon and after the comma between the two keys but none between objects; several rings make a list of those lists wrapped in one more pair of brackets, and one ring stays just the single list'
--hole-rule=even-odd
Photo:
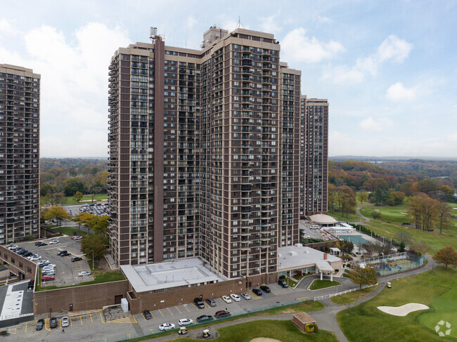
[{"label": "massive brown and beige high-rise in the centre", "polygon": [[151,39],[109,67],[113,258],[200,256],[273,281],[278,247],[300,240],[301,72],[264,32],[211,27],[201,50]]}]

